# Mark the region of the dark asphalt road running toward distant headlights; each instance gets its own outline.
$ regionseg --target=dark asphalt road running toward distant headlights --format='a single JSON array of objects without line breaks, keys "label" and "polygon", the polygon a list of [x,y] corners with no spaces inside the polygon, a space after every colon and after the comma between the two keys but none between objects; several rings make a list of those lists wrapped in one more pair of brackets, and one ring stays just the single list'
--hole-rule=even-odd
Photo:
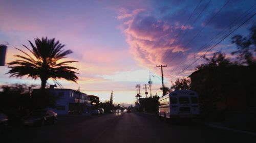
[{"label": "dark asphalt road running toward distant headlights", "polygon": [[56,125],[9,127],[0,142],[256,142],[256,136],[198,124],[165,123],[144,113],[63,116]]}]

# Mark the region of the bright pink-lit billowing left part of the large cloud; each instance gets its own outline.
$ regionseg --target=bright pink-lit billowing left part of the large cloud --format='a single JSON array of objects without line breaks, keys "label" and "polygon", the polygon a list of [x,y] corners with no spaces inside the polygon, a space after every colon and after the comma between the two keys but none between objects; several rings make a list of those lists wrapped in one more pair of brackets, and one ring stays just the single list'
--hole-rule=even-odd
[{"label": "bright pink-lit billowing left part of the large cloud", "polygon": [[[127,16],[127,10],[121,9],[126,20],[121,26],[122,32],[126,35],[126,41],[131,47],[134,59],[144,67],[153,67],[163,63],[165,52],[170,54],[185,52],[189,48],[179,45],[172,45],[175,41],[177,31],[190,30],[187,25],[170,25],[168,21],[159,20],[154,16],[145,14],[145,11],[134,10]],[[170,66],[169,68],[171,68]]]}]

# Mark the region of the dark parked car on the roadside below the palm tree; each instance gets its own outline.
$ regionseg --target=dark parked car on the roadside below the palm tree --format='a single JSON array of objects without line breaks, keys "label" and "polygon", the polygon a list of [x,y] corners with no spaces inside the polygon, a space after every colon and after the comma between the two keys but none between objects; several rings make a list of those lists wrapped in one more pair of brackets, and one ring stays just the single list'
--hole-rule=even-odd
[{"label": "dark parked car on the roadside below the palm tree", "polygon": [[28,116],[22,118],[23,125],[41,125],[55,124],[57,121],[57,113],[52,110],[34,110]]}]

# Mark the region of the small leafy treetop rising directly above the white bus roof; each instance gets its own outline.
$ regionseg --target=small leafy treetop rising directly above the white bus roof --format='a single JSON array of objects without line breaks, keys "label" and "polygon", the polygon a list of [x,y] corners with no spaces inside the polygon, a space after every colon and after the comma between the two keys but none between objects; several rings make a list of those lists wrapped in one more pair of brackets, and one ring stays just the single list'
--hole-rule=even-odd
[{"label": "small leafy treetop rising directly above the white bus roof", "polygon": [[191,81],[190,79],[181,78],[176,79],[175,83],[172,81],[171,90],[190,90],[191,88]]}]

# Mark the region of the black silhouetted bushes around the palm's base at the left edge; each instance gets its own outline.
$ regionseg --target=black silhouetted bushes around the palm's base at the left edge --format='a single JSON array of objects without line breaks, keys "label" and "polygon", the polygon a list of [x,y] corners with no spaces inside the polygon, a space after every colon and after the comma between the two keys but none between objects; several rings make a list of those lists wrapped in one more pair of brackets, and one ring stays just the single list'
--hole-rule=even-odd
[{"label": "black silhouetted bushes around the palm's base at the left edge", "polygon": [[48,90],[38,89],[35,92],[36,87],[39,85],[15,83],[1,86],[0,111],[8,115],[11,124],[19,123],[29,111],[55,106],[55,97]]}]

